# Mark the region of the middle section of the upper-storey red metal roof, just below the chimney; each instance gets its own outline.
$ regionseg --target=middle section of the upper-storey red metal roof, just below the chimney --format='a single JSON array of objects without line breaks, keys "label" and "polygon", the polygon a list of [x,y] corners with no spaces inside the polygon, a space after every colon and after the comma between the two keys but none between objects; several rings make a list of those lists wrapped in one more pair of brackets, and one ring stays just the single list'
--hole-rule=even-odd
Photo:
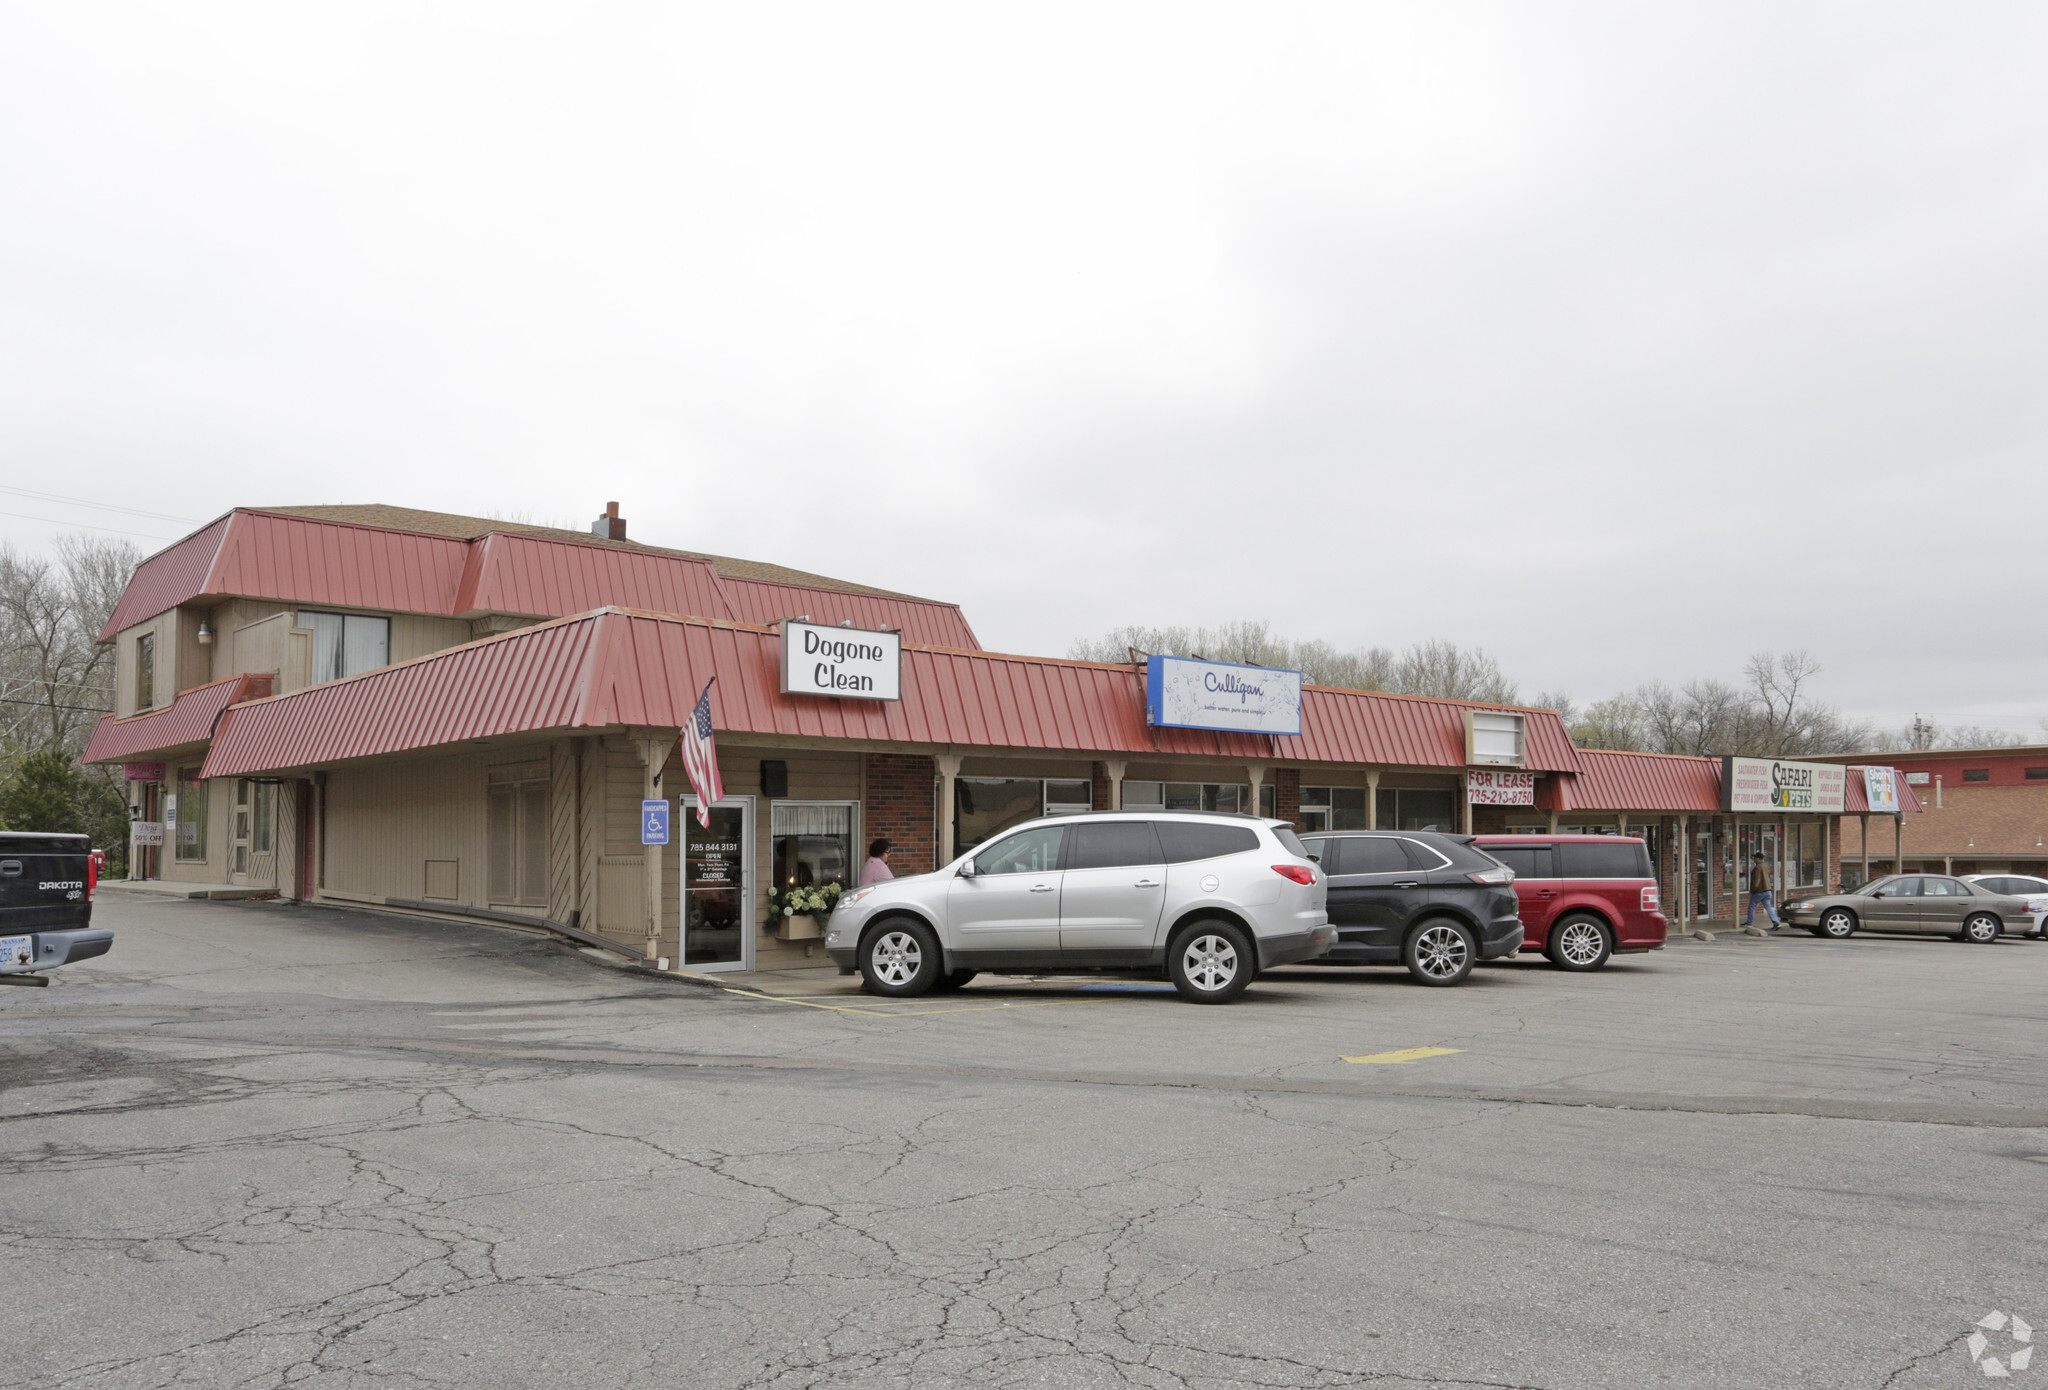
[{"label": "middle section of the upper-storey red metal roof, just below the chimney", "polygon": [[565,618],[618,604],[692,618],[737,616],[711,561],[506,530],[457,545],[469,549],[469,561],[449,612]]}]

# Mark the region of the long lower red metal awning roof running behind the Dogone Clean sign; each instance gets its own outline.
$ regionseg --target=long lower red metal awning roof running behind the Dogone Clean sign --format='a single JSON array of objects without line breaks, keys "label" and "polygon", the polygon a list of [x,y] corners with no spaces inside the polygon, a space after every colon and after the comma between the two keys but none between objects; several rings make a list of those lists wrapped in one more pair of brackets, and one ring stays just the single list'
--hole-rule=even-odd
[{"label": "long lower red metal awning roof running behind the Dogone Clean sign", "polygon": [[[1151,729],[1133,667],[911,645],[901,700],[786,696],[772,631],[610,608],[240,706],[207,776],[541,729],[676,729],[713,678],[713,723],[735,733],[1260,762],[1462,768],[1460,712],[1473,708],[1313,690],[1300,739]],[[1544,719],[1556,729],[1540,731]],[[1554,712],[1530,710],[1530,727],[1534,770],[1577,768]]]}]

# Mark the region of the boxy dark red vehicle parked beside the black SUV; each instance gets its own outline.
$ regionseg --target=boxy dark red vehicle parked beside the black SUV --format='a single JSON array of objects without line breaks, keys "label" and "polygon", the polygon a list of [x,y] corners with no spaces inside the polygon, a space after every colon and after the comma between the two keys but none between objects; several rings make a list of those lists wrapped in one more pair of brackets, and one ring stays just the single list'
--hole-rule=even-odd
[{"label": "boxy dark red vehicle parked beside the black SUV", "polygon": [[1630,835],[1481,835],[1475,848],[1516,870],[1522,950],[1561,970],[1597,970],[1614,952],[1659,950],[1651,852]]}]

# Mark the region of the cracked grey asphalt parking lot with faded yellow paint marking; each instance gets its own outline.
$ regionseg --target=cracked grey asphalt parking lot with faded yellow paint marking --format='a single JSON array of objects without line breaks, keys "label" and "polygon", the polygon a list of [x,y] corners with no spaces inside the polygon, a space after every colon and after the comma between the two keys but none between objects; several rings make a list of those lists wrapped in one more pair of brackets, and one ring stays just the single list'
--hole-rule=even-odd
[{"label": "cracked grey asphalt parking lot with faded yellow paint marking", "polygon": [[2048,944],[1194,1007],[96,921],[0,991],[8,1386],[1907,1390],[1982,1384],[1991,1310],[2048,1329]]}]

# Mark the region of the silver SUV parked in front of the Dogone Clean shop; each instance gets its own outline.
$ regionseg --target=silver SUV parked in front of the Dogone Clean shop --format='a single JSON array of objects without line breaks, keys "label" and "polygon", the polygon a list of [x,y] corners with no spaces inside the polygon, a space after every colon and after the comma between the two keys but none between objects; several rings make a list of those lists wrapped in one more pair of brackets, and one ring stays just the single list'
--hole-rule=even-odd
[{"label": "silver SUV parked in front of the Dogone Clean shop", "polygon": [[1090,811],[844,895],[825,954],[893,997],[981,970],[1163,970],[1182,999],[1227,1003],[1260,970],[1329,950],[1325,895],[1286,821]]}]

